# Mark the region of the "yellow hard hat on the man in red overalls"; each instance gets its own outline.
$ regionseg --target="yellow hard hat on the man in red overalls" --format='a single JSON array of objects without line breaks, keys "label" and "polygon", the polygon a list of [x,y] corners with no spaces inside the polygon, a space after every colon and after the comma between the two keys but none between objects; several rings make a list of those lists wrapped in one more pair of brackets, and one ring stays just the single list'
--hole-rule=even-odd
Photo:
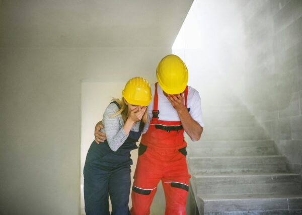
[{"label": "yellow hard hat on the man in red overalls", "polygon": [[179,94],[184,92],[188,84],[188,69],[180,57],[170,54],[159,63],[156,77],[163,91]]}]

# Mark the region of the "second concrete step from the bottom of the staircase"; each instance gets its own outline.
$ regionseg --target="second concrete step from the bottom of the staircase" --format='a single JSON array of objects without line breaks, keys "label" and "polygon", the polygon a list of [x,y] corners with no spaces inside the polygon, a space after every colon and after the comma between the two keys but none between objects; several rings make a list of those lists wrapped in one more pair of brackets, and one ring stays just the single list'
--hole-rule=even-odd
[{"label": "second concrete step from the bottom of the staircase", "polygon": [[300,174],[199,175],[192,179],[197,195],[302,193]]}]

